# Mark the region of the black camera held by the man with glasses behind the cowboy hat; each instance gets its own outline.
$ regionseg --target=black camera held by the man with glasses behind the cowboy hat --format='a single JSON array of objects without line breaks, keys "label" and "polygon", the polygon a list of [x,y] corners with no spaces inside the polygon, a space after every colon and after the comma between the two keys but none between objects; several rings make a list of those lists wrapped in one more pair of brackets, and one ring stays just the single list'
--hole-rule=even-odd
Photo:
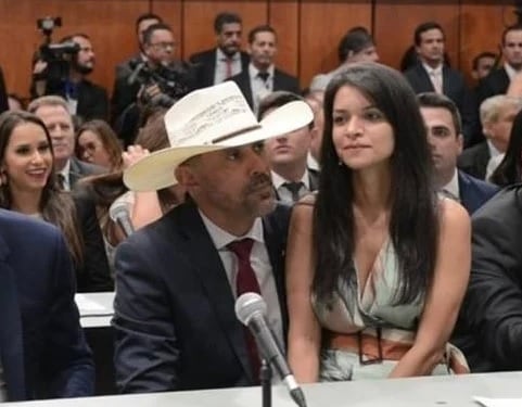
[{"label": "black camera held by the man with glasses behind the cowboy hat", "polygon": [[139,82],[144,87],[157,85],[161,90],[161,93],[152,98],[147,92],[142,92],[139,102],[143,105],[168,109],[191,90],[190,71],[182,64],[175,66],[160,65],[152,68],[147,62],[136,59],[130,61],[129,66],[132,69],[127,80],[129,85],[135,82]]}]

